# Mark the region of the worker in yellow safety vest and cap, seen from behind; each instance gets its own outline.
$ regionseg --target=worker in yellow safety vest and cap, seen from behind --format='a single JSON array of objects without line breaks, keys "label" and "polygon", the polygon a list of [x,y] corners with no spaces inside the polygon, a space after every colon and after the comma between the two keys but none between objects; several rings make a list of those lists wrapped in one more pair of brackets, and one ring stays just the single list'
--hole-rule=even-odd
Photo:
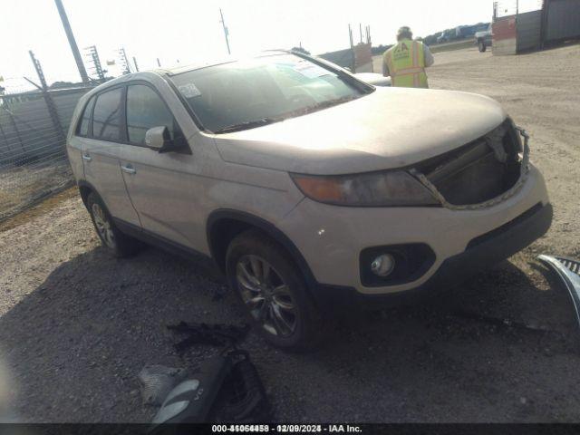
[{"label": "worker in yellow safety vest and cap, seen from behind", "polygon": [[393,86],[429,88],[425,68],[434,62],[429,47],[413,41],[411,29],[404,26],[397,33],[397,43],[382,55],[382,75],[391,76]]}]

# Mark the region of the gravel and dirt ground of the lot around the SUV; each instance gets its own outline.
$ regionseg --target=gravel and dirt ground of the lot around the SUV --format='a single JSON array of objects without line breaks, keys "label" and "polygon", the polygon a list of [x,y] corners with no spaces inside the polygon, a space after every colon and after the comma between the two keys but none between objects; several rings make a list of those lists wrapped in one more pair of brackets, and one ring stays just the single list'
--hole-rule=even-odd
[{"label": "gravel and dirt ground of the lot around the SUV", "polygon": [[[556,219],[523,253],[438,304],[353,315],[322,350],[285,354],[243,343],[285,421],[578,421],[580,332],[540,252],[580,256],[577,135],[580,46],[494,58],[436,55],[433,88],[498,99],[532,135]],[[137,373],[179,359],[166,324],[241,322],[206,260],[150,248],[103,252],[71,194],[0,227],[0,343],[11,415],[34,421],[147,421]],[[2,379],[0,379],[0,385]],[[2,401],[0,397],[0,401]]]}]

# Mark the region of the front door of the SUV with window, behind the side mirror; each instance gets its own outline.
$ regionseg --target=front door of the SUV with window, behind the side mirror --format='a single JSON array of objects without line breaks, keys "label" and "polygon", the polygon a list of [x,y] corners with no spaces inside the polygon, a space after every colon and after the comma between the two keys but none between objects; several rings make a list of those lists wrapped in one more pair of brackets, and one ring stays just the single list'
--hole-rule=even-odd
[{"label": "front door of the SUV with window, behind the side mirror", "polygon": [[[196,174],[202,162],[194,159],[182,129],[152,84],[127,86],[126,125],[128,144],[121,169],[141,227],[182,246],[205,247],[204,221],[196,212],[200,184]],[[145,132],[160,126],[169,129],[171,139],[182,142],[183,150],[159,153],[145,147]]]}]

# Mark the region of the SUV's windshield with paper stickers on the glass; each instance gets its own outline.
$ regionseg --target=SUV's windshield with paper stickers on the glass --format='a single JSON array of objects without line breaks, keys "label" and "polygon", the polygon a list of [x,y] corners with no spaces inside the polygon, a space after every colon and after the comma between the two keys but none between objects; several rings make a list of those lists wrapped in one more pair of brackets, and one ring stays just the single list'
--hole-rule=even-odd
[{"label": "SUV's windshield with paper stickers on the glass", "polygon": [[171,80],[209,131],[247,130],[362,96],[348,80],[294,54],[179,73]]}]

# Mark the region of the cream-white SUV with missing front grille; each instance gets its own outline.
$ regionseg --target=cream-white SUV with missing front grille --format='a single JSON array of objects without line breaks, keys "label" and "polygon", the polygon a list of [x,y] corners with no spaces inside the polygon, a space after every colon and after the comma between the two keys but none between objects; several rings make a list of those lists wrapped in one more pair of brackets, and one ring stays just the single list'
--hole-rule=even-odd
[{"label": "cream-white SUV with missing front grille", "polygon": [[300,53],[122,76],[82,97],[67,143],[105,247],[211,256],[285,348],[336,310],[457,283],[552,219],[497,102]]}]

